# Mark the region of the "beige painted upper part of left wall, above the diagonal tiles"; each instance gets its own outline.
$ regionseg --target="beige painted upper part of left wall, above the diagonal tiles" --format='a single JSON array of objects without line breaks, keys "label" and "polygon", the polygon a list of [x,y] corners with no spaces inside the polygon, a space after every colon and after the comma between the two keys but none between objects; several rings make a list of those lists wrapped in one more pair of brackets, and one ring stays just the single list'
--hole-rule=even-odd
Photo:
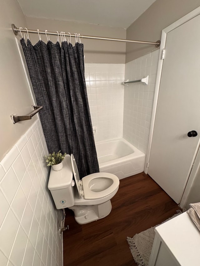
[{"label": "beige painted upper part of left wall, above the diagonal tiles", "polygon": [[15,125],[10,118],[11,114],[32,112],[33,100],[18,50],[18,45],[21,46],[19,37],[16,38],[11,29],[11,23],[26,27],[26,21],[16,0],[1,0],[0,7],[1,160],[36,118]]}]

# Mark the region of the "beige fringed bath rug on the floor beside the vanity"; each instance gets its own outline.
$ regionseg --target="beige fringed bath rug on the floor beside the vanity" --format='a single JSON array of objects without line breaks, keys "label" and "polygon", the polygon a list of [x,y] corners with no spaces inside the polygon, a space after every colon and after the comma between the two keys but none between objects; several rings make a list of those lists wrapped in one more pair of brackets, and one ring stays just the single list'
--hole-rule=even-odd
[{"label": "beige fringed bath rug on the floor beside the vanity", "polygon": [[[167,220],[162,222],[162,224],[181,213],[182,213],[181,210],[177,210],[177,214],[168,218]],[[133,259],[138,264],[138,266],[148,266],[153,246],[153,240],[155,237],[154,229],[156,226],[158,225],[155,225],[139,234],[136,234],[132,238],[127,237],[131,254],[133,255]]]}]

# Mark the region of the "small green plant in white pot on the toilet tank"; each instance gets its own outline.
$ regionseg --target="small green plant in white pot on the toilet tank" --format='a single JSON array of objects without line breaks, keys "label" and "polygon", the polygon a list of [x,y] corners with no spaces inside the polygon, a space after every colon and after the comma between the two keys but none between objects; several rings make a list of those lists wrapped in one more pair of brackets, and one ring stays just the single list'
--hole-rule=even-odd
[{"label": "small green plant in white pot on the toilet tank", "polygon": [[63,160],[66,153],[62,154],[61,151],[53,152],[46,156],[47,166],[52,166],[53,170],[60,171],[63,168]]}]

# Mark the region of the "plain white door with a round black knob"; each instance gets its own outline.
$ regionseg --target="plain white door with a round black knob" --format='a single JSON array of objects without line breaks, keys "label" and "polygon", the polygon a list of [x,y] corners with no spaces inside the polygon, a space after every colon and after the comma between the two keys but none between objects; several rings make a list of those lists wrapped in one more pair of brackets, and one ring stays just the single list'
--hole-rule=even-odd
[{"label": "plain white door with a round black knob", "polygon": [[[197,131],[196,137],[187,133]],[[192,133],[191,133],[192,134]],[[180,203],[200,137],[200,15],[167,34],[148,174]]]}]

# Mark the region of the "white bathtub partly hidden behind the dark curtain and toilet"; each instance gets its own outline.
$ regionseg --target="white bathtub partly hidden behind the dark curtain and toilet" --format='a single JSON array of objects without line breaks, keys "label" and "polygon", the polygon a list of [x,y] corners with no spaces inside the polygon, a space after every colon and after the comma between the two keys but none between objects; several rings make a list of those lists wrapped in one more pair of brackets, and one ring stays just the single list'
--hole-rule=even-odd
[{"label": "white bathtub partly hidden behind the dark curtain and toilet", "polygon": [[100,172],[123,179],[144,171],[145,154],[125,139],[98,142],[95,146]]}]

